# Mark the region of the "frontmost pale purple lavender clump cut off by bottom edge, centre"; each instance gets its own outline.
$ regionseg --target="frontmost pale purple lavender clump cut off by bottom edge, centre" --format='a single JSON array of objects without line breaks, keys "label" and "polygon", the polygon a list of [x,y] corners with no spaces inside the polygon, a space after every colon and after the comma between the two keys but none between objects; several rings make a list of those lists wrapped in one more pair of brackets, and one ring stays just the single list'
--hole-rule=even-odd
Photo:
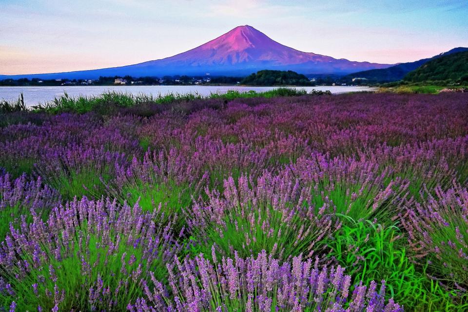
[{"label": "frontmost pale purple lavender clump cut off by bottom edge, centre", "polygon": [[169,268],[174,301],[157,285],[145,287],[145,297],[129,311],[403,311],[392,299],[386,303],[385,281],[379,289],[373,281],[351,288],[344,268],[319,266],[318,259],[298,256],[281,263],[262,251],[245,259],[214,259],[214,264],[203,255],[175,262],[176,273]]}]

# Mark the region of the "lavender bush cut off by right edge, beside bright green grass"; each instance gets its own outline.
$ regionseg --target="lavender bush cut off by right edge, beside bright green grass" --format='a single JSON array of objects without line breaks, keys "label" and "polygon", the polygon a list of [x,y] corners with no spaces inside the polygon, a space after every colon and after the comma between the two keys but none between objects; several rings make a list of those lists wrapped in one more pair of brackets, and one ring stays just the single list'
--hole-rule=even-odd
[{"label": "lavender bush cut off by right edge, beside bright green grass", "polygon": [[415,202],[402,216],[409,245],[416,261],[431,268],[432,278],[440,278],[458,291],[468,288],[468,190],[459,184],[424,202]]}]

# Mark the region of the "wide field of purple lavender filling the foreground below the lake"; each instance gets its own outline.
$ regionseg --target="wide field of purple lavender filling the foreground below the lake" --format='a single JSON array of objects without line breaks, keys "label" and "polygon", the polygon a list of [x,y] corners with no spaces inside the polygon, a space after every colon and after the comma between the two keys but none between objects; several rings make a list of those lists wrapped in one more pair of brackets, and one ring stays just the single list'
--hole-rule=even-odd
[{"label": "wide field of purple lavender filling the foreground below the lake", "polygon": [[0,113],[0,311],[468,311],[468,95]]}]

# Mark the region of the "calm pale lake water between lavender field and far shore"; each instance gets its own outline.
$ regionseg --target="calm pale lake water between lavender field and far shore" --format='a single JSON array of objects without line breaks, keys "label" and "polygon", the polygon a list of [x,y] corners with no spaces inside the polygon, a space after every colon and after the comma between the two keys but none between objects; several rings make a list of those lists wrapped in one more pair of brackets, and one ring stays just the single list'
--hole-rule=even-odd
[{"label": "calm pale lake water between lavender field and far shore", "polygon": [[[26,105],[37,105],[53,100],[55,96],[67,92],[70,96],[78,95],[98,95],[106,91],[129,92],[134,95],[147,93],[153,95],[165,95],[168,93],[198,93],[209,95],[210,93],[225,93],[228,90],[256,92],[275,89],[276,87],[238,87],[238,86],[73,86],[73,87],[0,87],[0,99],[15,100],[20,93],[23,93]],[[315,90],[331,93],[370,91],[367,87],[351,86],[327,86],[327,87],[291,87],[296,89],[306,89],[308,92]]]}]

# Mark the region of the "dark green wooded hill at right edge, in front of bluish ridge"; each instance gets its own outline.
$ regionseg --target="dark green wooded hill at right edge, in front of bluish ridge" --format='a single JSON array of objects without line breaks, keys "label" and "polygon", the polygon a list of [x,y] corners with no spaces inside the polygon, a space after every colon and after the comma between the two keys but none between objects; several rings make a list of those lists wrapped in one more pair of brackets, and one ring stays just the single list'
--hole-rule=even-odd
[{"label": "dark green wooded hill at right edge, in front of bluish ridge", "polygon": [[468,51],[437,57],[409,72],[403,80],[409,82],[448,80],[468,84]]}]

